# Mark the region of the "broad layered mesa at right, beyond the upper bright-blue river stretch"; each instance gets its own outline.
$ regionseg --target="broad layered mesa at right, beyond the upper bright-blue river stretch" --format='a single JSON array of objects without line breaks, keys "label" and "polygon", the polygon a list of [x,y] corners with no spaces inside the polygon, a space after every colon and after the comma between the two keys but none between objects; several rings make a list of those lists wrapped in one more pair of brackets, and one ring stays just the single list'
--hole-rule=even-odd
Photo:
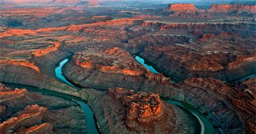
[{"label": "broad layered mesa at right, beyond the upper bright-blue river stretch", "polygon": [[151,36],[155,40],[145,38],[150,36],[140,36],[129,40],[129,43],[141,50],[144,46],[144,52],[139,53],[139,56],[166,76],[178,81],[193,77],[235,81],[255,73],[253,38],[243,38],[239,32],[222,32],[217,35],[204,35],[200,32],[194,34],[198,39],[186,36],[182,39],[183,36],[177,36],[180,40],[158,42],[157,39],[164,36]]}]

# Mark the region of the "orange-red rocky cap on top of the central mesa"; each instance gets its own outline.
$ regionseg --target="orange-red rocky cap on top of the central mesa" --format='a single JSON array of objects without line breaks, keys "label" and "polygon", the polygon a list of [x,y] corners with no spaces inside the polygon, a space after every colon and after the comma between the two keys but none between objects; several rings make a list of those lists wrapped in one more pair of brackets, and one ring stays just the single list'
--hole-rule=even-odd
[{"label": "orange-red rocky cap on top of the central mesa", "polygon": [[[100,53],[102,56],[99,55]],[[107,49],[105,52],[99,52],[93,49],[76,52],[73,56],[73,60],[76,65],[81,66],[82,68],[97,68],[98,70],[101,70],[101,72],[105,73],[121,73],[130,76],[141,75],[140,71],[129,65],[129,61],[132,60],[129,53],[120,48],[113,48],[111,50]],[[109,62],[107,62],[107,60],[109,60]],[[107,63],[103,63],[101,61],[105,61]],[[125,61],[125,64],[120,64],[121,61]]]}]

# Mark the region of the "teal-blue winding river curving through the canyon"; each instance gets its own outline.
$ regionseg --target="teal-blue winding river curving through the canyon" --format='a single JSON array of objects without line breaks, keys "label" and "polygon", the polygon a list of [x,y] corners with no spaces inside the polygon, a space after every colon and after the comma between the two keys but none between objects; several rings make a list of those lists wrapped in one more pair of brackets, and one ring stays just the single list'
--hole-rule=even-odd
[{"label": "teal-blue winding river curving through the canyon", "polygon": [[[67,84],[69,84],[70,86],[74,86],[74,84],[71,84],[70,82],[68,82],[68,80],[66,80],[66,78],[63,76],[62,74],[62,66],[64,66],[64,64],[66,62],[68,62],[68,58],[62,60],[62,62],[60,62],[60,65],[58,67],[56,67],[55,72],[56,72],[56,76],[58,78],[60,78],[61,80],[63,80],[64,82],[66,82]],[[159,73],[157,72],[152,66],[149,66],[147,64],[144,63],[144,60],[142,58],[139,58],[139,56],[135,57],[135,60],[137,60],[138,62],[140,62],[141,64],[143,64],[146,68],[149,68],[149,70],[151,72],[154,73]],[[171,80],[171,82],[174,82]],[[78,103],[80,105],[80,109],[82,109],[82,111],[84,111],[84,117],[86,119],[86,130],[89,134],[99,134],[101,132],[99,132],[97,130],[97,125],[96,125],[96,120],[94,119],[94,115],[92,110],[90,109],[90,107],[88,106],[88,104],[86,103],[85,100],[82,100],[81,98],[78,98],[76,96],[71,96],[68,94],[62,94],[59,92],[54,92],[51,90],[43,90],[43,89],[39,89],[37,87],[34,86],[24,86],[21,84],[8,84],[8,83],[4,83],[6,86],[12,86],[15,88],[27,88],[27,90],[31,91],[31,92],[42,92],[42,94],[46,94],[46,95],[51,95],[51,96],[58,96],[60,98],[64,98],[66,100],[73,100],[76,103]],[[214,128],[212,127],[212,125],[210,124],[210,122],[208,121],[208,119],[206,118],[206,116],[202,113],[200,113],[200,111],[198,111],[198,109],[196,109],[195,107],[192,107],[191,105],[188,105],[188,103],[184,103],[184,102],[180,102],[171,98],[164,98],[161,97],[162,100],[166,100],[168,103],[172,103],[174,105],[178,105],[180,107],[183,107],[184,109],[187,109],[188,111],[190,111],[199,121],[200,125],[201,125],[201,134],[213,134],[214,132]]]}]

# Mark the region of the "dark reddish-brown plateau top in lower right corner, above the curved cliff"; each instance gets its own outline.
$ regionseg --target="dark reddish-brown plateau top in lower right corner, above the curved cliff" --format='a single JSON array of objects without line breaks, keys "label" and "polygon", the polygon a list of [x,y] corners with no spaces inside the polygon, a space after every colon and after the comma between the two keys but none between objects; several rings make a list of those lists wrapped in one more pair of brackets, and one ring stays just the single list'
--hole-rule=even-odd
[{"label": "dark reddish-brown plateau top in lower right corner, above the curved cliff", "polygon": [[232,105],[231,109],[235,109],[246,124],[245,133],[255,133],[255,80],[256,78],[249,78],[243,82],[237,82],[235,87],[228,86],[226,82],[215,80],[214,78],[189,78],[184,82],[185,84],[202,88],[208,92],[214,92],[225,98]]}]

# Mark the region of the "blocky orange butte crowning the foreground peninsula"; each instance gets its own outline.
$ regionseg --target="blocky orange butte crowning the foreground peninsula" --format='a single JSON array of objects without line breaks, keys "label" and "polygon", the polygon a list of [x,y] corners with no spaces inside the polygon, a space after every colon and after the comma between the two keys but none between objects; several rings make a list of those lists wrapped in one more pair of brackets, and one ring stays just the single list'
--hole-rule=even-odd
[{"label": "blocky orange butte crowning the foreground peninsula", "polygon": [[127,107],[127,123],[133,120],[142,124],[157,121],[159,117],[164,115],[164,108],[161,107],[159,94],[153,92],[136,92],[129,96],[123,96],[123,106]]}]

